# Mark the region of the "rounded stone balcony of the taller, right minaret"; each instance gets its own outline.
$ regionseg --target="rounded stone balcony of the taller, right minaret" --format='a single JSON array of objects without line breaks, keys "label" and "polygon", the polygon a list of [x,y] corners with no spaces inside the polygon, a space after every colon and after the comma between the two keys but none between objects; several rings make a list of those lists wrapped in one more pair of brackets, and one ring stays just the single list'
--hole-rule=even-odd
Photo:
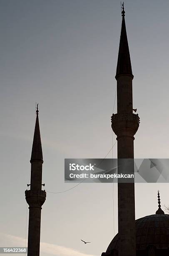
[{"label": "rounded stone balcony of the taller, right minaret", "polygon": [[138,114],[117,113],[113,114],[112,130],[117,136],[134,136],[139,128],[140,118]]}]

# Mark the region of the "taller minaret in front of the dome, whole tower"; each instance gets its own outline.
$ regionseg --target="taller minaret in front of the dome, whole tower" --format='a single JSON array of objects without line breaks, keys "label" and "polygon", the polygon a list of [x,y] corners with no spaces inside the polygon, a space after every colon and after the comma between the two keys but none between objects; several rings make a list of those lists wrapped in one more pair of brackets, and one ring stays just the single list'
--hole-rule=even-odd
[{"label": "taller minaret in front of the dome, whole tower", "polygon": [[[134,134],[139,128],[139,116],[133,114],[132,66],[127,41],[124,3],[122,4],[122,28],[117,61],[117,114],[112,115],[112,129],[117,135],[117,157],[131,159],[134,173]],[[136,110],[135,110],[136,111]],[[122,160],[121,160],[122,161]],[[119,172],[119,169],[118,169]],[[134,182],[118,181],[118,256],[136,256]]]}]

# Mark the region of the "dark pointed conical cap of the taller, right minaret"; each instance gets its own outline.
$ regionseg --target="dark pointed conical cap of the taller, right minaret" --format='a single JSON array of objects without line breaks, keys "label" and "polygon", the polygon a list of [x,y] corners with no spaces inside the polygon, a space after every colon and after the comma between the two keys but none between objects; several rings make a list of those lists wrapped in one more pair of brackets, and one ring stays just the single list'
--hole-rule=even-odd
[{"label": "dark pointed conical cap of the taller, right minaret", "polygon": [[119,44],[119,54],[117,60],[117,70],[116,76],[121,74],[128,74],[133,77],[132,74],[132,65],[130,61],[130,53],[129,53],[129,45],[127,41],[127,32],[126,32],[126,24],[125,24],[125,11],[124,11],[124,3],[122,4],[122,28],[121,28],[121,35],[120,35],[120,44]]}]

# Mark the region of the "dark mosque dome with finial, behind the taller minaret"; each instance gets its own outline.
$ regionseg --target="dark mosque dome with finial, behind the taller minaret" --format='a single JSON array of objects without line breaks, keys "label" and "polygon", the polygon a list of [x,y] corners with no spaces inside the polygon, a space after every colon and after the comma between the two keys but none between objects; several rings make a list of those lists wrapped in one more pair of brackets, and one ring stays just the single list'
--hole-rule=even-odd
[{"label": "dark mosque dome with finial, behind the taller minaret", "polygon": [[[102,256],[118,256],[117,234]],[[164,214],[159,200],[156,214],[136,220],[136,250],[137,256],[167,256],[169,255],[169,214]]]}]

